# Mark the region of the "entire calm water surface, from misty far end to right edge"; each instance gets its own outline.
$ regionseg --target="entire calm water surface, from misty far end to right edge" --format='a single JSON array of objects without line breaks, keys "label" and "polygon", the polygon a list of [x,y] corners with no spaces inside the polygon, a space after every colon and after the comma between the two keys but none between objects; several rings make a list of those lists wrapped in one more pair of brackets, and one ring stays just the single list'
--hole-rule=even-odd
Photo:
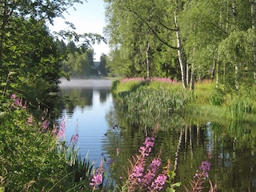
[{"label": "entire calm water surface, from misty far end to right edge", "polygon": [[[114,102],[110,82],[72,83],[61,86],[62,96],[78,101],[75,106],[63,106],[66,140],[78,134],[80,153],[88,153],[96,165],[101,158],[116,162],[112,176],[118,179],[129,165],[127,159],[138,152],[157,121],[154,117],[126,114]],[[153,155],[161,150],[163,163],[170,159],[175,180],[188,185],[201,162],[208,161],[210,178],[218,183],[218,191],[256,191],[256,126],[250,122],[220,125],[212,119],[192,122],[197,121],[181,114],[158,121]]]}]

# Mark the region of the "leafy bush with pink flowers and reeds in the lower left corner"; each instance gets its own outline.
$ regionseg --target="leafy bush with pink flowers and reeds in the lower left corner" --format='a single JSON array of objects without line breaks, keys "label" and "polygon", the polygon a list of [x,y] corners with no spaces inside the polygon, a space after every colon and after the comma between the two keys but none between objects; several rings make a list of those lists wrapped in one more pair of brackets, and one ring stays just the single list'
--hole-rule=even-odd
[{"label": "leafy bush with pink flowers and reeds in the lower left corner", "polygon": [[15,95],[0,102],[0,189],[78,191],[82,184],[88,186],[90,163],[70,150],[73,145],[58,142],[61,127],[49,129],[45,114],[40,120],[34,118],[26,102]]}]

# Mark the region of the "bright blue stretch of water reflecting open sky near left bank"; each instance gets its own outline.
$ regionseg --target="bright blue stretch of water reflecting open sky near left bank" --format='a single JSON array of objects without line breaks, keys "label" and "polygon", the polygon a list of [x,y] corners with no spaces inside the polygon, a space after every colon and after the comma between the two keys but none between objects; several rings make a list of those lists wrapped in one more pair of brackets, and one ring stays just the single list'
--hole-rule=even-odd
[{"label": "bright blue stretch of water reflecting open sky near left bank", "polygon": [[75,100],[74,107],[63,106],[62,114],[67,118],[66,140],[78,134],[78,147],[82,156],[88,156],[96,164],[102,158],[102,140],[109,125],[106,113],[113,106],[109,89],[62,87],[62,97]]}]

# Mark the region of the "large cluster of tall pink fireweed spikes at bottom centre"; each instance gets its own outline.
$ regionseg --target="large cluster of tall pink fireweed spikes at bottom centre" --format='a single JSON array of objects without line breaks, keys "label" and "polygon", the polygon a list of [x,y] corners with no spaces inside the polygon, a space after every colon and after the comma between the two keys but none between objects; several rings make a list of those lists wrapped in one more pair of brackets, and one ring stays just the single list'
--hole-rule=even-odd
[{"label": "large cluster of tall pink fireweed spikes at bottom centre", "polygon": [[[154,129],[154,134],[157,133],[158,126]],[[150,165],[146,167],[146,158],[149,156],[152,148],[154,147],[154,134],[153,137],[146,137],[143,146],[140,147],[139,153],[135,154],[133,160],[130,161],[130,168],[128,168],[128,178],[121,191],[159,191],[162,190],[166,179],[168,177],[168,170],[170,164],[166,166],[165,170],[159,173],[162,160],[160,154],[154,158]]]}]

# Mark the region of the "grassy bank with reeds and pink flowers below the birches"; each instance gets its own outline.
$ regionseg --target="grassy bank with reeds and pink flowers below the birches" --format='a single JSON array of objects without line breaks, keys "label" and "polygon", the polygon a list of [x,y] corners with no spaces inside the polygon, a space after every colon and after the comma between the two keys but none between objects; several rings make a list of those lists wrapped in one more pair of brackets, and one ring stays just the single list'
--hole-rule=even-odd
[{"label": "grassy bank with reeds and pink flowers below the birches", "polygon": [[213,82],[196,83],[194,91],[165,78],[126,78],[112,84],[116,98],[131,113],[186,113],[198,121],[252,121],[256,114],[255,90],[227,93]]}]

